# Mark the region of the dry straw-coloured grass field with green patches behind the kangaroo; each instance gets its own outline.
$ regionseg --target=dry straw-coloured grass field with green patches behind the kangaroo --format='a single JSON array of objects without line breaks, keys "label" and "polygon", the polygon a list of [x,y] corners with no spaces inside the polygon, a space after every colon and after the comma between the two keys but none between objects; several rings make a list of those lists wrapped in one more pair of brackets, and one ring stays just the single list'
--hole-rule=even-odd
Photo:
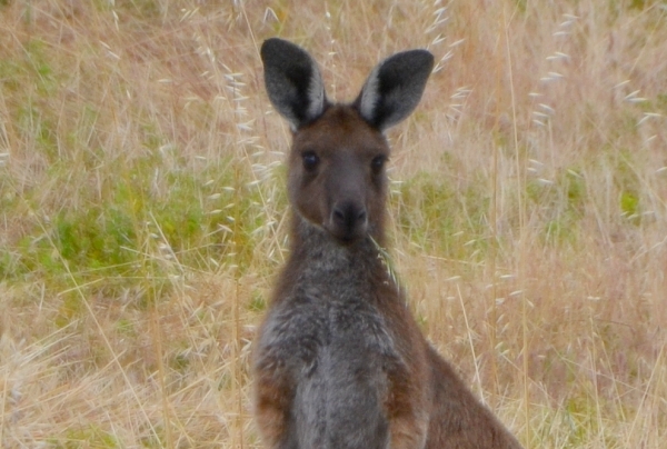
[{"label": "dry straw-coloured grass field with green patches behind the kangaroo", "polygon": [[389,132],[424,332],[526,448],[667,441],[667,1],[0,0],[0,446],[252,448],[290,133],[259,46]]}]

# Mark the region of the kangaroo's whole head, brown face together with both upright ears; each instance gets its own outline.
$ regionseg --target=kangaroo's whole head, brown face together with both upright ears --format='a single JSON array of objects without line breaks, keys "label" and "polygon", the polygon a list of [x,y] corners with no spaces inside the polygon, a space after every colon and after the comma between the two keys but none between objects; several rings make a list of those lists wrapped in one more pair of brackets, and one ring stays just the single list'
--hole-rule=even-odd
[{"label": "kangaroo's whole head, brown face together with both upright ears", "polygon": [[261,47],[271,103],[292,130],[288,190],[296,213],[349,245],[381,237],[389,146],[384,131],[419,103],[434,57],[394,54],[371,72],[351,104],[334,104],[315,60],[281,39]]}]

